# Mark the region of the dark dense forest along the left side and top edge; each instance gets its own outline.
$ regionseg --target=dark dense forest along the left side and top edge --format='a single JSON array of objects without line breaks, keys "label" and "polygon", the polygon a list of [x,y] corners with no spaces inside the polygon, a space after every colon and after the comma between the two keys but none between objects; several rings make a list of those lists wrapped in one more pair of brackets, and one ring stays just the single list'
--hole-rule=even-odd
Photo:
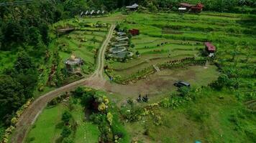
[{"label": "dark dense forest along the left side and top edge", "polygon": [[[12,2],[12,0],[8,0]],[[49,26],[72,18],[86,9],[115,11],[129,4],[144,7],[177,9],[181,0],[52,0],[4,5],[0,0],[0,51],[17,53],[14,65],[0,71],[0,126],[10,119],[27,99],[33,97],[37,85],[37,69],[44,64],[51,39]],[[17,0],[18,1],[18,0]],[[199,0],[188,0],[193,4]],[[256,0],[201,0],[205,10],[243,12],[256,6]],[[241,8],[242,7],[242,8]],[[1,58],[1,57],[0,57]]]}]

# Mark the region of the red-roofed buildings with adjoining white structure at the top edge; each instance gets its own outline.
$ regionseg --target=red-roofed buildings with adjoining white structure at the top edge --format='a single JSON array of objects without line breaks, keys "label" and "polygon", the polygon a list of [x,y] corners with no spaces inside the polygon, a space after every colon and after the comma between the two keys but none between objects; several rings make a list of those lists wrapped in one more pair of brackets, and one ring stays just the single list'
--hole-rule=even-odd
[{"label": "red-roofed buildings with adjoining white structure at the top edge", "polygon": [[204,8],[204,5],[201,3],[196,4],[196,6],[188,3],[180,3],[179,6],[180,8],[178,8],[178,10],[180,11],[180,13],[185,13],[186,11],[190,11],[192,13],[200,13],[201,11],[203,11]]}]

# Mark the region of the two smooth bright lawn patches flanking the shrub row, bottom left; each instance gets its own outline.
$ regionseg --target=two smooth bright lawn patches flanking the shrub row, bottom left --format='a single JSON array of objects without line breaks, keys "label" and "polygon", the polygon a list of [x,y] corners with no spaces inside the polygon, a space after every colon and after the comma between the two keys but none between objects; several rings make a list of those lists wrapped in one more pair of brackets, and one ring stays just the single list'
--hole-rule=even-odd
[{"label": "two smooth bright lawn patches flanking the shrub row, bottom left", "polygon": [[[27,142],[58,142],[62,131],[61,116],[68,110],[68,103],[58,104],[56,107],[46,108],[38,117],[29,134]],[[72,134],[74,142],[98,142],[99,129],[91,122],[84,122],[83,107],[73,104],[72,117],[78,124],[76,132]]]}]

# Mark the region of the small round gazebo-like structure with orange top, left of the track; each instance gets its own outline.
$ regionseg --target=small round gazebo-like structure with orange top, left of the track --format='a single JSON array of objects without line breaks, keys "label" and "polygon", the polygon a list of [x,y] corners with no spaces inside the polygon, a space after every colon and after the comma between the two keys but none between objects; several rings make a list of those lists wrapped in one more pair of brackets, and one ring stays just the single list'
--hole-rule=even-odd
[{"label": "small round gazebo-like structure with orange top, left of the track", "polygon": [[78,58],[75,54],[72,54],[69,59],[65,60],[65,66],[70,73],[81,72],[83,65],[83,59]]}]

